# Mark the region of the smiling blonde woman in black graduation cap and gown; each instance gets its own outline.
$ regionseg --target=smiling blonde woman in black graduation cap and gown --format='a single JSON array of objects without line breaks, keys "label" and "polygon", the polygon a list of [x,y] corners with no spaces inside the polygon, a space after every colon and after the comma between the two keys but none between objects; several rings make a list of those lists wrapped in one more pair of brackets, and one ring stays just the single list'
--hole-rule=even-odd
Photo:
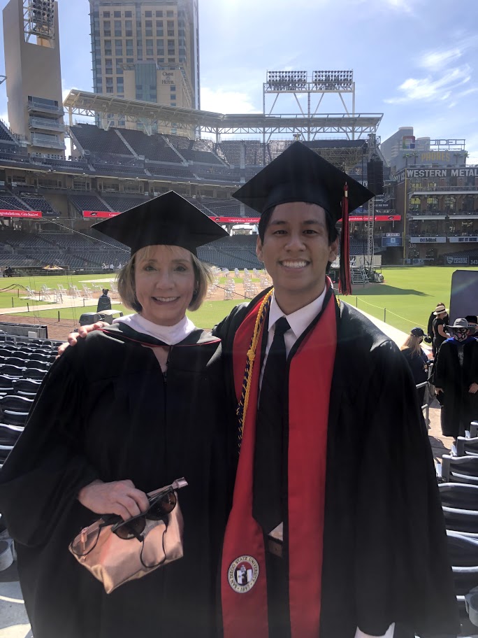
[{"label": "smiling blonde woman in black graduation cap and gown", "polygon": [[[55,362],[1,471],[27,612],[35,638],[210,638],[233,428],[221,343],[185,311],[208,285],[196,246],[225,232],[174,192],[97,227],[131,247],[118,288],[137,313]],[[106,595],[68,544],[101,514],[145,511],[145,492],[181,476],[184,558]]]}]

